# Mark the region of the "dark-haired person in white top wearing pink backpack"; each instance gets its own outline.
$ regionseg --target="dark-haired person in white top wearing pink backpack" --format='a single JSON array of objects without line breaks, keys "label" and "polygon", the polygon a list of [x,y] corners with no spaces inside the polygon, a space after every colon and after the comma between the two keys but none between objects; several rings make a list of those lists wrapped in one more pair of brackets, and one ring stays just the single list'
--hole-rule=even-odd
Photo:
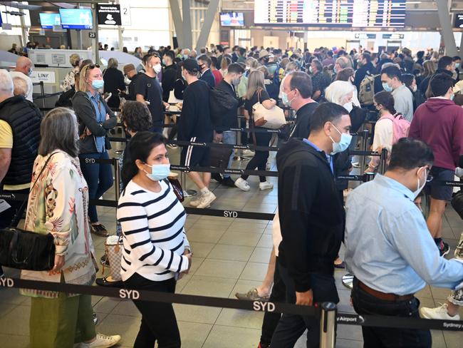
[{"label": "dark-haired person in white top wearing pink backpack", "polygon": [[[380,113],[380,118],[375,125],[375,135],[373,135],[373,145],[371,148],[373,151],[378,150],[378,148],[385,148],[390,153],[394,136],[394,129],[390,118],[397,115],[397,111],[394,108],[394,96],[390,92],[378,92],[373,98],[373,106]],[[379,163],[379,157],[372,156],[365,173],[375,172]]]}]

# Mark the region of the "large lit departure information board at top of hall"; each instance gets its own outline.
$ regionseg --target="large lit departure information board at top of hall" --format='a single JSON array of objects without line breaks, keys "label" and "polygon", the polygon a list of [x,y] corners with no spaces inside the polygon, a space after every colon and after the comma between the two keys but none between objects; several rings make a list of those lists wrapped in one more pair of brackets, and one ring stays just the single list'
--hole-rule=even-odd
[{"label": "large lit departure information board at top of hall", "polygon": [[406,0],[254,0],[254,24],[403,28]]}]

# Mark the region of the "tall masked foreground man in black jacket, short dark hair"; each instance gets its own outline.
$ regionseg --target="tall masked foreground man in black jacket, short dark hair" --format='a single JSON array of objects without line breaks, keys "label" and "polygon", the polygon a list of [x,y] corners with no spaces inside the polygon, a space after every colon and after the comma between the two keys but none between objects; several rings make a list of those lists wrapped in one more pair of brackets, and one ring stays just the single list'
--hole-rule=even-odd
[{"label": "tall masked foreground man in black jacket, short dark hair", "polygon": [[[290,139],[276,155],[281,236],[279,271],[290,303],[339,302],[334,260],[343,240],[344,210],[330,154],[350,143],[350,117],[323,103],[311,117],[308,139]],[[319,347],[319,320],[283,314],[272,348],[293,347],[308,329],[307,347]]]}]

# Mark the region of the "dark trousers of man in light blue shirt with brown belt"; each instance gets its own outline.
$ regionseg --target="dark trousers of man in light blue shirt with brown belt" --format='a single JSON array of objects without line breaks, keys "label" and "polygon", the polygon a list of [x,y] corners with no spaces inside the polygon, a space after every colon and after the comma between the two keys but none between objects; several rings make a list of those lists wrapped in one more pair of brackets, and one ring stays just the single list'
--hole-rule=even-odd
[{"label": "dark trousers of man in light blue shirt with brown belt", "polygon": [[[378,314],[390,317],[419,318],[420,301],[413,297],[407,301],[385,301],[374,297],[358,286],[354,279],[352,302],[358,314]],[[362,327],[364,348],[430,348],[430,330],[396,329],[389,327]]]}]

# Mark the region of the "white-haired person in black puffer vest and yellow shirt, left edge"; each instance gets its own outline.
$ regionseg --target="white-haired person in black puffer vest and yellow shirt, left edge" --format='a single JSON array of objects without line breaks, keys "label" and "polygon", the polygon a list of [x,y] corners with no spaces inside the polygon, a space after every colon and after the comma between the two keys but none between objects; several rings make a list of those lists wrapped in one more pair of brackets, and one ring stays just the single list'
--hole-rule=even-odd
[{"label": "white-haired person in black puffer vest and yellow shirt, left edge", "polygon": [[[0,70],[0,190],[4,194],[27,195],[31,187],[33,161],[40,142],[41,113],[24,98],[13,95],[8,71]],[[0,200],[1,201],[1,200]],[[8,227],[21,201],[6,200],[0,213],[0,228]],[[0,267],[0,275],[3,272]]]}]

